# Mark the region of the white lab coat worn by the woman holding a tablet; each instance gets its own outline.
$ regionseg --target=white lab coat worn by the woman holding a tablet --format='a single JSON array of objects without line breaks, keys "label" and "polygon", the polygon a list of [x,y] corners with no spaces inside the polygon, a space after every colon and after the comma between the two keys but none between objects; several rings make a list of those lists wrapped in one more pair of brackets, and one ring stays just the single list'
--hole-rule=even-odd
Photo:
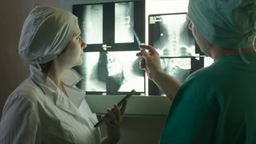
[{"label": "white lab coat worn by the woman holding a tablet", "polygon": [[30,65],[27,78],[5,102],[0,144],[100,144],[99,128],[88,119],[93,113],[76,88],[81,77],[69,69],[61,77],[69,98],[43,73]]}]

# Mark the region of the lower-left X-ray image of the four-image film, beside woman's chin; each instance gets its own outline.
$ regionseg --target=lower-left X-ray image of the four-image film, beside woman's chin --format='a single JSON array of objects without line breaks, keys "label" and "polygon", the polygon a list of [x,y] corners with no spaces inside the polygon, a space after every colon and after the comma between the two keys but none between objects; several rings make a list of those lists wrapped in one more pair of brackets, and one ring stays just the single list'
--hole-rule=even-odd
[{"label": "lower-left X-ray image of the four-image film, beside woman's chin", "polygon": [[[80,75],[83,79],[80,88],[84,91],[106,92],[106,75],[99,72],[100,52],[88,52],[83,55],[83,64],[80,65]],[[105,77],[100,78],[100,77]]]}]

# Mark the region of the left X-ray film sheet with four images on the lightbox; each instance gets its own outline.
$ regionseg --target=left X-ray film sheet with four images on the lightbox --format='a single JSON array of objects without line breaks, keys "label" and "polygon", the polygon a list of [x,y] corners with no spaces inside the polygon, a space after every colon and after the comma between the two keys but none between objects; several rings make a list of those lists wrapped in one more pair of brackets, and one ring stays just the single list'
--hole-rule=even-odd
[{"label": "left X-ray film sheet with four images on the lightbox", "polygon": [[87,94],[123,95],[135,89],[136,95],[145,95],[133,34],[134,29],[145,43],[145,1],[73,5],[73,13],[87,44],[83,64],[74,67],[83,77],[77,87]]}]

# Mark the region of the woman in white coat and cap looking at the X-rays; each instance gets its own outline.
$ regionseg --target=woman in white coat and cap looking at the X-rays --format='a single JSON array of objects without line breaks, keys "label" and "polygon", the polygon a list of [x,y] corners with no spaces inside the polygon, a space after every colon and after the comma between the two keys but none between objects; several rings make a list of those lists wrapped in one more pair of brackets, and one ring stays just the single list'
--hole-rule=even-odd
[{"label": "woman in white coat and cap looking at the X-rays", "polygon": [[34,8],[21,32],[19,54],[33,64],[30,76],[5,102],[0,144],[115,144],[127,100],[107,109],[107,136],[101,138],[88,117],[93,113],[76,88],[81,80],[72,67],[83,62],[85,42],[77,17],[52,7]]}]

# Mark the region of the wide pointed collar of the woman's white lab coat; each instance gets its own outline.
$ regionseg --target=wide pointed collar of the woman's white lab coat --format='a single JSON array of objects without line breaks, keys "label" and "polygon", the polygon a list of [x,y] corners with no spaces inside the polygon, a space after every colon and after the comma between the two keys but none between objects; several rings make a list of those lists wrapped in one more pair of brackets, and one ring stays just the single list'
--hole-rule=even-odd
[{"label": "wide pointed collar of the woman's white lab coat", "polygon": [[[72,104],[69,103],[67,97],[64,96],[64,94],[60,91],[59,88],[57,88],[55,83],[53,83],[53,81],[49,77],[47,77],[46,82],[44,82],[43,72],[41,72],[32,64],[29,65],[29,69],[31,79],[36,83],[37,86],[41,88],[45,95],[48,95],[50,93],[56,93],[56,106],[69,112],[73,111],[72,113],[74,114],[77,113],[76,110],[69,109],[71,108]],[[61,81],[64,83],[64,87],[68,93],[69,100],[72,101],[72,103],[75,105],[75,107],[77,107],[77,109],[80,107],[85,97],[85,91],[82,91],[79,88],[75,87],[75,85],[81,79],[82,77],[72,68],[68,69],[61,76]]]}]

